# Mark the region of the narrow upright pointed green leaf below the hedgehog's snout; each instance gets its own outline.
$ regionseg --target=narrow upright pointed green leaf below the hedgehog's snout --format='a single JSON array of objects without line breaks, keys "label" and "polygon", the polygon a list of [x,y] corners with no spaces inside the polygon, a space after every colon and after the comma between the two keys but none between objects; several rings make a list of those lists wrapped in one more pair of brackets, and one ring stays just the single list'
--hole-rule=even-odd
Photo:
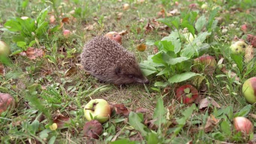
[{"label": "narrow upright pointed green leaf below the hedgehog's snout", "polygon": [[162,123],[167,122],[165,119],[165,114],[166,111],[164,108],[164,101],[161,98],[159,98],[156,104],[156,109],[153,114],[153,119],[156,120],[154,123],[158,126],[158,131],[161,131]]}]

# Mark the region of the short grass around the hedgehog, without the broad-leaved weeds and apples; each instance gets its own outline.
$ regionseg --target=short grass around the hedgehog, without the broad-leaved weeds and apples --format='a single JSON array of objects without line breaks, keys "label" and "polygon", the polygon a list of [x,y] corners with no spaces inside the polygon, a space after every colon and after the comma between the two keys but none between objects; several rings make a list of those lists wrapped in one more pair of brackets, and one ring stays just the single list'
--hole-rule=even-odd
[{"label": "short grass around the hedgehog, without the broad-leaved weeds and apples", "polygon": [[[221,0],[207,2],[210,6],[211,4],[221,6],[223,11],[222,13],[218,12],[216,16],[222,18],[214,30],[213,39],[216,44],[211,44],[211,48],[205,53],[216,56],[216,60],[224,57],[227,70],[236,73],[240,77],[239,82],[243,84],[246,79],[256,76],[255,56],[248,64],[243,62],[244,71],[240,71],[234,67],[234,60],[225,55],[226,53],[223,51],[231,45],[234,36],[244,38],[245,34],[256,34],[254,27],[256,3],[250,0],[226,1],[225,4]],[[128,3],[130,9],[123,10],[122,4],[124,3]],[[189,112],[186,111],[184,115],[183,111],[187,108],[192,110],[193,106],[179,104],[173,99],[175,99],[175,89],[182,84],[189,83],[189,81],[169,83],[166,88],[154,87],[155,82],[164,82],[165,80],[161,76],[152,74],[148,76],[150,84],[145,87],[128,85],[119,88],[112,84],[99,83],[97,79],[86,74],[81,68],[80,53],[83,45],[92,37],[109,31],[127,30],[128,34],[122,36],[122,45],[135,53],[139,62],[146,60],[148,55],[154,54],[155,46],[147,46],[144,52],[139,52],[136,49],[137,46],[150,40],[161,40],[164,37],[162,32],[170,34],[174,30],[170,28],[162,30],[161,27],[165,25],[155,26],[152,19],[162,18],[157,15],[162,9],[165,12],[170,12],[175,8],[180,11],[178,16],[183,18],[183,15],[192,11],[189,8],[191,3],[199,5],[196,8],[199,10],[199,16],[204,14],[208,18],[210,12],[200,8],[200,5],[204,3],[201,0],[179,1],[179,6],[176,6],[173,1],[167,0],[145,0],[143,3],[135,0],[122,0],[121,2],[116,0],[15,0],[15,2],[1,0],[0,40],[10,45],[12,52],[20,48],[16,42],[13,42],[14,34],[8,32],[3,26],[7,20],[21,16],[36,19],[39,13],[48,6],[48,14],[44,21],[49,22],[51,15],[56,18],[53,24],[48,24],[49,28],[59,25],[64,17],[69,18],[69,23],[64,23],[59,30],[53,33],[44,31],[43,36],[38,39],[38,43],[33,45],[34,48],[42,49],[45,56],[30,60],[25,56],[13,55],[10,56],[11,64],[5,65],[6,73],[0,75],[0,92],[12,95],[16,106],[13,111],[5,111],[0,115],[1,143],[76,144],[87,141],[87,143],[107,144],[111,140],[124,138],[140,141],[139,143],[149,143],[149,136],[141,135],[143,133],[136,128],[136,130],[134,129],[127,116],[120,115],[112,116],[112,119],[103,125],[104,133],[98,140],[88,141],[83,137],[82,132],[86,122],[83,116],[83,107],[91,98],[103,98],[109,103],[122,103],[133,111],[139,107],[147,108],[150,112],[144,116],[145,119],[151,119],[152,116],[157,115],[154,114],[155,110],[163,110],[161,106],[156,106],[159,98],[163,99],[165,107],[174,105],[176,109],[174,113],[170,114],[171,118],[167,119],[166,123],[162,122],[161,131],[156,133],[159,144],[185,144],[188,141],[193,141],[193,144],[248,142],[247,138],[239,136],[239,134],[233,132],[232,135],[228,135],[223,131],[221,122],[228,122],[232,129],[233,115],[246,107],[248,103],[242,96],[241,84],[235,83],[234,79],[228,77],[229,74],[225,74],[225,77],[216,77],[223,74],[218,69],[213,76],[205,76],[206,80],[203,81],[198,90],[206,89],[201,91],[201,96],[214,98],[221,105],[221,108],[217,109],[211,105],[204,111],[195,109],[193,114],[189,115]],[[120,13],[122,16],[121,19],[118,19]],[[155,29],[145,33],[144,27],[149,19],[150,24],[154,25]],[[245,23],[248,25],[248,30],[243,33],[240,26]],[[234,24],[234,28],[230,28],[230,24]],[[88,26],[92,27],[92,30],[88,30]],[[228,28],[228,32],[226,34],[221,33],[221,27]],[[70,37],[65,38],[63,36],[62,30],[64,29],[72,32]],[[16,33],[16,35],[18,34]],[[25,40],[31,39],[31,37],[33,36],[27,36]],[[210,39],[207,40],[210,43]],[[231,117],[228,117],[230,114],[228,106],[232,107],[232,111],[230,110]],[[224,113],[223,116],[220,111]],[[256,120],[248,115],[248,113],[256,113],[255,105],[249,109],[245,108],[244,111],[246,114],[239,116],[248,117],[256,126]],[[64,128],[51,131],[49,126],[60,113],[65,117],[70,117],[70,122],[65,124]],[[210,114],[214,114],[221,122],[217,123],[211,132],[204,132],[204,126]],[[184,119],[186,124],[182,125],[181,129],[174,135],[173,129],[180,126],[174,122],[178,119]],[[155,135],[153,132],[147,133],[151,137]],[[255,143],[252,138],[250,141]]]}]

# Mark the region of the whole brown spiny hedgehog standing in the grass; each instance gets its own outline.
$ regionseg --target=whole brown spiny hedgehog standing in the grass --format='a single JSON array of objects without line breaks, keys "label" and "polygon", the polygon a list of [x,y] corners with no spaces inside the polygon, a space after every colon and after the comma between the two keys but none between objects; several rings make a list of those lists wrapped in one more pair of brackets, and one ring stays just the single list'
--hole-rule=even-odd
[{"label": "whole brown spiny hedgehog standing in the grass", "polygon": [[134,54],[109,37],[97,36],[87,42],[81,54],[81,64],[100,82],[114,85],[149,83]]}]

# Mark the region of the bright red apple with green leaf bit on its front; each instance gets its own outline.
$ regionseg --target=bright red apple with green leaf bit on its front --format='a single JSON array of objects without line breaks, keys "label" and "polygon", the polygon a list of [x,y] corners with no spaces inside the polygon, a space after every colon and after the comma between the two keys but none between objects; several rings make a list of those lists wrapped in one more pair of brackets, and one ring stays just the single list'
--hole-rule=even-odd
[{"label": "bright red apple with green leaf bit on its front", "polygon": [[176,98],[184,104],[191,104],[198,98],[198,91],[192,85],[183,85],[176,90]]}]

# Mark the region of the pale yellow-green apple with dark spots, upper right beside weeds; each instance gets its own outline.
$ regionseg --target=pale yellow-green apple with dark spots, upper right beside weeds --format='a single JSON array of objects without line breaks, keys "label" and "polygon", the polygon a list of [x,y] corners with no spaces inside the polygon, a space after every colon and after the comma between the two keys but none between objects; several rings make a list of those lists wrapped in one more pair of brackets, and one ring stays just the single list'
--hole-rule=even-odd
[{"label": "pale yellow-green apple with dark spots, upper right beside weeds", "polygon": [[239,40],[235,43],[233,43],[231,46],[230,46],[230,49],[231,49],[231,52],[233,54],[241,54],[241,55],[244,55],[245,53],[245,48],[247,47],[248,45],[243,41],[243,40]]}]

